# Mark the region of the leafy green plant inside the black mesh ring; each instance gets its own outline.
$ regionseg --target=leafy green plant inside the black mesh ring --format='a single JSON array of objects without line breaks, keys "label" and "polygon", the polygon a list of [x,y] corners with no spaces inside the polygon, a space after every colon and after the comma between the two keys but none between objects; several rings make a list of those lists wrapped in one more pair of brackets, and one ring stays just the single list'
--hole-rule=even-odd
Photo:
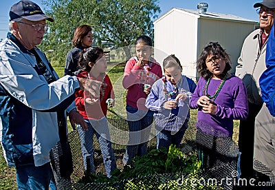
[{"label": "leafy green plant inside the black mesh ring", "polygon": [[[135,156],[131,164],[124,166],[122,171],[119,169],[113,171],[111,178],[85,172],[85,176],[79,182],[115,184],[115,182],[124,180],[123,187],[118,187],[118,189],[131,190],[155,189],[155,187],[157,189],[223,189],[211,184],[200,184],[199,173],[201,171],[201,161],[198,160],[196,152],[186,155],[175,145],[170,145],[168,151],[152,149],[144,156]],[[175,173],[175,175],[168,180],[150,180],[152,176],[162,173]],[[111,186],[107,189],[115,188]]]}]

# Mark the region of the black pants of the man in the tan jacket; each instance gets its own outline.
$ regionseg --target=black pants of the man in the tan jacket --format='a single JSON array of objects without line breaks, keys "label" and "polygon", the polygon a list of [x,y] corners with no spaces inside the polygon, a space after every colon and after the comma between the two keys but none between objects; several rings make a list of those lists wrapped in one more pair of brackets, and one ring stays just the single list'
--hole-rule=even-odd
[{"label": "black pants of the man in the tan jacket", "polygon": [[254,129],[255,118],[262,105],[248,103],[249,113],[246,120],[240,120],[239,125],[239,151],[241,178],[254,178],[253,154],[254,154]]}]

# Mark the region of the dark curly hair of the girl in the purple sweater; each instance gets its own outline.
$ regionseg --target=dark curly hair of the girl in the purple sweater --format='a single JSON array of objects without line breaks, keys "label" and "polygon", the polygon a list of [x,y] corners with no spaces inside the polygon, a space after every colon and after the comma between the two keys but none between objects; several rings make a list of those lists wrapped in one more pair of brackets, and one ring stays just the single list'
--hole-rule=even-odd
[{"label": "dark curly hair of the girl in the purple sweater", "polygon": [[210,72],[206,67],[206,58],[209,55],[212,55],[213,59],[221,57],[225,60],[225,68],[223,73],[220,75],[223,78],[228,73],[228,71],[231,70],[231,61],[228,53],[225,52],[223,47],[221,47],[218,42],[210,42],[203,48],[199,58],[197,59],[197,72],[206,80],[212,78],[212,72]]}]

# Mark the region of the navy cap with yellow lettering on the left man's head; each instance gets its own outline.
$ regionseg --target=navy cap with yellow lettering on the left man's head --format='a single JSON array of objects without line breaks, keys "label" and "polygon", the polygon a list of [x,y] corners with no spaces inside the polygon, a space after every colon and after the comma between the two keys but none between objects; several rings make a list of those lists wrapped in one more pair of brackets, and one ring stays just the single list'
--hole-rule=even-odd
[{"label": "navy cap with yellow lettering on the left man's head", "polygon": [[28,0],[19,1],[10,8],[10,21],[19,18],[27,19],[29,21],[54,21],[51,17],[47,17],[36,3]]}]

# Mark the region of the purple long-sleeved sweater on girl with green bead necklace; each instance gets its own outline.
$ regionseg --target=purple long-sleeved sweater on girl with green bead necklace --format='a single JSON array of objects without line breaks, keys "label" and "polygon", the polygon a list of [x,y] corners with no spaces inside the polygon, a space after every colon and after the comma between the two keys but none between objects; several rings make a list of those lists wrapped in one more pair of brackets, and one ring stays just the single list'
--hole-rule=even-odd
[{"label": "purple long-sleeved sweater on girl with green bead necklace", "polygon": [[[220,83],[221,80],[211,79],[208,85],[208,94],[212,96]],[[221,134],[232,137],[233,120],[243,120],[248,117],[248,98],[243,81],[237,76],[230,76],[230,78],[226,79],[214,101],[217,104],[216,114],[214,115],[204,114],[201,111],[201,107],[197,105],[199,97],[203,94],[205,84],[206,80],[202,77],[199,78],[197,88],[190,98],[190,108],[199,108],[197,121],[201,125],[197,127],[208,134],[212,134],[213,130],[208,131],[206,126],[213,127],[214,130],[220,131]]]}]

